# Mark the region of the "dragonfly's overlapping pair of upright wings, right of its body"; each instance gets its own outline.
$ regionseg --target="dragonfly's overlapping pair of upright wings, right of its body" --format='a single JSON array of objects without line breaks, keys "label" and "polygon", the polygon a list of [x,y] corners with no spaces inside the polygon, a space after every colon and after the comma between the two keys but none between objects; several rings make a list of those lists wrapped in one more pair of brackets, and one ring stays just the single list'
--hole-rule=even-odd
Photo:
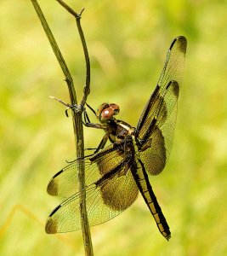
[{"label": "dragonfly's overlapping pair of upright wings, right of its body", "polygon": [[184,37],[173,40],[156,89],[137,125],[136,137],[140,157],[146,170],[153,175],[162,172],[173,145],[186,45]]}]

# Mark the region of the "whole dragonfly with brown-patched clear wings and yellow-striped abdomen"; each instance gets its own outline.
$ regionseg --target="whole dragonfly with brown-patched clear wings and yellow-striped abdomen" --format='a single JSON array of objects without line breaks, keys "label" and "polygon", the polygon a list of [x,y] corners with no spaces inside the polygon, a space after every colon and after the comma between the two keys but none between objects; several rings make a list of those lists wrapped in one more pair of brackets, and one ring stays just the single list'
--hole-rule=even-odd
[{"label": "whole dragonfly with brown-patched clear wings and yellow-striped abdomen", "polygon": [[[156,89],[151,94],[136,128],[114,118],[116,104],[103,103],[96,115],[105,130],[94,154],[65,166],[48,183],[49,195],[66,198],[48,217],[47,233],[81,228],[78,165],[85,165],[86,205],[90,225],[104,223],[130,207],[140,194],[167,240],[171,233],[154,194],[148,174],[157,175],[166,166],[173,144],[179,88],[184,73],[186,38],[173,40]],[[105,147],[110,139],[111,145]]]}]

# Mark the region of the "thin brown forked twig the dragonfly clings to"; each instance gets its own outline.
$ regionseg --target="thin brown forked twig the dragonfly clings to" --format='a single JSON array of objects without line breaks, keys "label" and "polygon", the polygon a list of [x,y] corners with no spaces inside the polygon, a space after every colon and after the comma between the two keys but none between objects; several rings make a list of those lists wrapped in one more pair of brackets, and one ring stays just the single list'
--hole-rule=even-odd
[{"label": "thin brown forked twig the dragonfly clings to", "polygon": [[[80,24],[81,15],[78,15],[73,9],[71,9],[68,5],[66,5],[63,1],[57,0],[65,9],[67,9],[71,15],[74,15],[77,20],[77,28],[81,37],[82,41],[82,47],[85,55],[86,60],[86,67],[87,67],[87,76],[86,76],[86,85],[84,87],[84,96],[82,98],[81,105],[78,106],[77,113],[75,111],[72,111],[72,120],[73,120],[73,128],[74,128],[74,136],[76,141],[76,148],[77,148],[77,158],[83,158],[84,157],[84,142],[83,142],[83,130],[82,130],[82,109],[84,104],[86,103],[88,94],[89,94],[89,85],[90,85],[90,63],[89,63],[89,57],[88,57],[88,49],[86,46],[85,38],[83,36],[82,27]],[[31,3],[33,4],[34,8],[36,9],[37,15],[43,25],[43,29],[46,32],[46,35],[48,37],[49,43],[51,44],[51,47],[54,51],[54,55],[56,56],[57,60],[59,61],[60,67],[62,69],[62,72],[65,74],[65,81],[68,85],[68,90],[71,98],[71,105],[77,105],[77,95],[76,90],[74,88],[73,79],[71,78],[71,73],[65,63],[65,59],[62,56],[60,49],[58,47],[58,44],[56,43],[54,36],[48,26],[48,23],[43,15],[42,10],[40,9],[37,0],[31,0]],[[92,241],[90,236],[90,230],[88,225],[88,215],[86,210],[86,204],[85,204],[85,179],[84,179],[84,165],[82,162],[80,162],[79,166],[79,188],[81,191],[81,219],[82,219],[82,236],[83,236],[83,242],[84,242],[84,248],[86,255],[93,255],[93,247],[92,247]]]}]

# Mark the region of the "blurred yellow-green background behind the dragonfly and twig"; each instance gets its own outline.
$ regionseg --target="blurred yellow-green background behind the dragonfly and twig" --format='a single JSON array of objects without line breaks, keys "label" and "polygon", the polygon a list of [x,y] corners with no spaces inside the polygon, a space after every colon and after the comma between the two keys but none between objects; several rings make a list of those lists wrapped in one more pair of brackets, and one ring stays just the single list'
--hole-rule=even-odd
[{"label": "blurred yellow-green background behind the dragonfly and twig", "polygon": [[[82,97],[85,65],[75,20],[39,1]],[[172,231],[166,241],[145,202],[92,228],[95,255],[226,255],[226,1],[68,1],[82,15],[91,59],[88,103],[121,106],[136,125],[173,38],[188,39],[173,150],[151,177]],[[74,159],[71,119],[48,96],[69,102],[64,76],[29,0],[0,2],[0,254],[83,255],[80,231],[46,235],[60,203],[48,180]],[[93,121],[96,121],[93,119]],[[85,130],[86,147],[103,131]]]}]

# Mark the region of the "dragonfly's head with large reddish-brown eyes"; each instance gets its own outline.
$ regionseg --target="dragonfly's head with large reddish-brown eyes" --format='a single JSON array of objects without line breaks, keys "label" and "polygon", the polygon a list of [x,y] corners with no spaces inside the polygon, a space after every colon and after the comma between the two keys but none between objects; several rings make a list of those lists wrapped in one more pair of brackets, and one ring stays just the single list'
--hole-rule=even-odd
[{"label": "dragonfly's head with large reddish-brown eyes", "polygon": [[103,103],[99,106],[96,116],[101,123],[106,123],[113,118],[114,115],[120,112],[120,108],[115,103]]}]

